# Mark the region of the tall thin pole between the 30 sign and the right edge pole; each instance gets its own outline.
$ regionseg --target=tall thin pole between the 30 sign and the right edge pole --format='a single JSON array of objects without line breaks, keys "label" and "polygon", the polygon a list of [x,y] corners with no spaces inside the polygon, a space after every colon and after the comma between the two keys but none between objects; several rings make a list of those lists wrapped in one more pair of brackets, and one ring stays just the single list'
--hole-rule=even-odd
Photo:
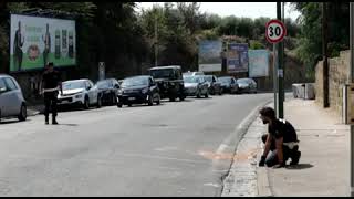
[{"label": "tall thin pole between the 30 sign and the right edge pole", "polygon": [[329,62],[327,62],[327,13],[326,2],[322,3],[322,52],[323,52],[323,107],[330,107],[329,102]]}]

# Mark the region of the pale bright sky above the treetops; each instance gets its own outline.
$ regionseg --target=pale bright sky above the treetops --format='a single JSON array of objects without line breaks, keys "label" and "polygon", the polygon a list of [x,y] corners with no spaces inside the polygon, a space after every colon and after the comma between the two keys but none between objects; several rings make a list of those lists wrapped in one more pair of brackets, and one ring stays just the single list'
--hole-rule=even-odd
[{"label": "pale bright sky above the treetops", "polygon": [[[138,10],[152,8],[154,3],[164,4],[164,2],[138,2]],[[199,10],[201,12],[216,13],[220,17],[277,18],[277,2],[201,2]],[[296,20],[300,12],[295,11],[290,3],[285,3],[284,15],[285,18]]]}]

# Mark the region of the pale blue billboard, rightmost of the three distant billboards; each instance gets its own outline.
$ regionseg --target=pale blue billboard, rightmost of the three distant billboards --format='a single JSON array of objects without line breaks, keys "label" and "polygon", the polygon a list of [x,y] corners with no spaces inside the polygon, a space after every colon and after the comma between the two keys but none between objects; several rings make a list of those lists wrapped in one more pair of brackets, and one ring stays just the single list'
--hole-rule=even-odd
[{"label": "pale blue billboard, rightmost of the three distant billboards", "polygon": [[268,50],[250,50],[249,56],[249,76],[261,77],[269,76],[269,52]]}]

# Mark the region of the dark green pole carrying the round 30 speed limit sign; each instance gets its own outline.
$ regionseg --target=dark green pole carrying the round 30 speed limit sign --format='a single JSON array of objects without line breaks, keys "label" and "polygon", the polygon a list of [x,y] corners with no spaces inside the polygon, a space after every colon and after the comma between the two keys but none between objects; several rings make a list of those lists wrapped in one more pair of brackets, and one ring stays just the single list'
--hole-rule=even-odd
[{"label": "dark green pole carrying the round 30 speed limit sign", "polygon": [[[277,2],[277,18],[281,20],[281,2]],[[284,118],[283,102],[284,102],[284,86],[283,86],[283,42],[278,43],[278,117]]]}]

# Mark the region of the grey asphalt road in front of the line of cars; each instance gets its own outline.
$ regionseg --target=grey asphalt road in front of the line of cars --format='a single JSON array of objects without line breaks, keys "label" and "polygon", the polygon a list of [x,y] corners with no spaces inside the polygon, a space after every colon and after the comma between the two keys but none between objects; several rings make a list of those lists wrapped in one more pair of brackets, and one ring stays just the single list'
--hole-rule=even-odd
[{"label": "grey asphalt road in front of the line of cars", "polygon": [[217,196],[212,157],[272,94],[60,113],[0,125],[0,196]]}]

